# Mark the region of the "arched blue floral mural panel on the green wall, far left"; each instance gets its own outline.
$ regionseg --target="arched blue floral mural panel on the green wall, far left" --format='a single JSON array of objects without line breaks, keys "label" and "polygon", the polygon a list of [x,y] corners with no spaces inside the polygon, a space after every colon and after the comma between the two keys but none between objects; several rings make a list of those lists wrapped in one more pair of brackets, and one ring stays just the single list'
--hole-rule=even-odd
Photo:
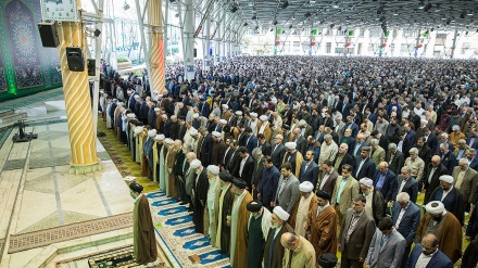
[{"label": "arched blue floral mural panel on the green wall, far left", "polygon": [[10,35],[16,87],[43,86],[38,53],[38,29],[30,10],[20,0],[5,7],[7,28]]}]

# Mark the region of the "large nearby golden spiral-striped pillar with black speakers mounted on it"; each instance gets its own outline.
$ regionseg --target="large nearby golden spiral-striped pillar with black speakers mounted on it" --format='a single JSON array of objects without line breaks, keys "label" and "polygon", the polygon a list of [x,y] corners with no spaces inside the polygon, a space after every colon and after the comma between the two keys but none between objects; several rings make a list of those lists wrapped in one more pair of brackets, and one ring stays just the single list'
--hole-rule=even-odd
[{"label": "large nearby golden spiral-striped pillar with black speakers mounted on it", "polygon": [[[78,1],[79,5],[79,1]],[[88,69],[71,72],[66,60],[66,47],[85,49],[83,23],[63,22],[59,24],[60,59],[62,66],[63,92],[65,94],[66,118],[68,122],[72,162],[70,174],[88,174],[101,170],[97,157],[91,100],[89,97]],[[95,116],[98,116],[97,114]]]}]

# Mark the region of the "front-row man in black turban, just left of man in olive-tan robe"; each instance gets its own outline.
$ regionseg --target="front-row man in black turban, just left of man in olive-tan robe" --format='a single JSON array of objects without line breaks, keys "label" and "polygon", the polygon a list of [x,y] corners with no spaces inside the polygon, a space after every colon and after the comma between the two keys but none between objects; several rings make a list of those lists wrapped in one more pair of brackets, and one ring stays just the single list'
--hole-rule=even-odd
[{"label": "front-row man in black turban, just left of man in olive-tan robe", "polygon": [[219,173],[221,194],[216,195],[214,209],[217,215],[217,234],[216,241],[211,241],[223,254],[229,254],[230,250],[230,215],[232,213],[234,197],[232,176],[228,173]]}]

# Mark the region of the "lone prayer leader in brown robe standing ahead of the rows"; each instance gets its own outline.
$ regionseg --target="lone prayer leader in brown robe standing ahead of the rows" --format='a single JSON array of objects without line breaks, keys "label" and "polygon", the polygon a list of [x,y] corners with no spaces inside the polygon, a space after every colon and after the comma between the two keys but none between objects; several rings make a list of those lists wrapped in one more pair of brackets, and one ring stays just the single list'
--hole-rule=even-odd
[{"label": "lone prayer leader in brown robe standing ahead of the rows", "polygon": [[133,242],[136,263],[142,265],[156,260],[158,247],[153,220],[148,197],[142,194],[142,186],[131,182],[129,193],[135,200],[133,210]]}]

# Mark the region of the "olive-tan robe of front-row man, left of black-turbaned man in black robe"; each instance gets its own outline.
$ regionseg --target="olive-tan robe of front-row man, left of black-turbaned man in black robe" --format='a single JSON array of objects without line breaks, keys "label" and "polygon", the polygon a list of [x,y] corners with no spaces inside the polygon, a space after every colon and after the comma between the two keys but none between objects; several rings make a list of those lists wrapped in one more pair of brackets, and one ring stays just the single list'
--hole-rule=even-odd
[{"label": "olive-tan robe of front-row man, left of black-turbaned man in black robe", "polygon": [[248,266],[248,222],[249,210],[247,205],[252,201],[252,195],[244,190],[239,196],[236,196],[232,206],[230,220],[230,263],[232,267]]}]

